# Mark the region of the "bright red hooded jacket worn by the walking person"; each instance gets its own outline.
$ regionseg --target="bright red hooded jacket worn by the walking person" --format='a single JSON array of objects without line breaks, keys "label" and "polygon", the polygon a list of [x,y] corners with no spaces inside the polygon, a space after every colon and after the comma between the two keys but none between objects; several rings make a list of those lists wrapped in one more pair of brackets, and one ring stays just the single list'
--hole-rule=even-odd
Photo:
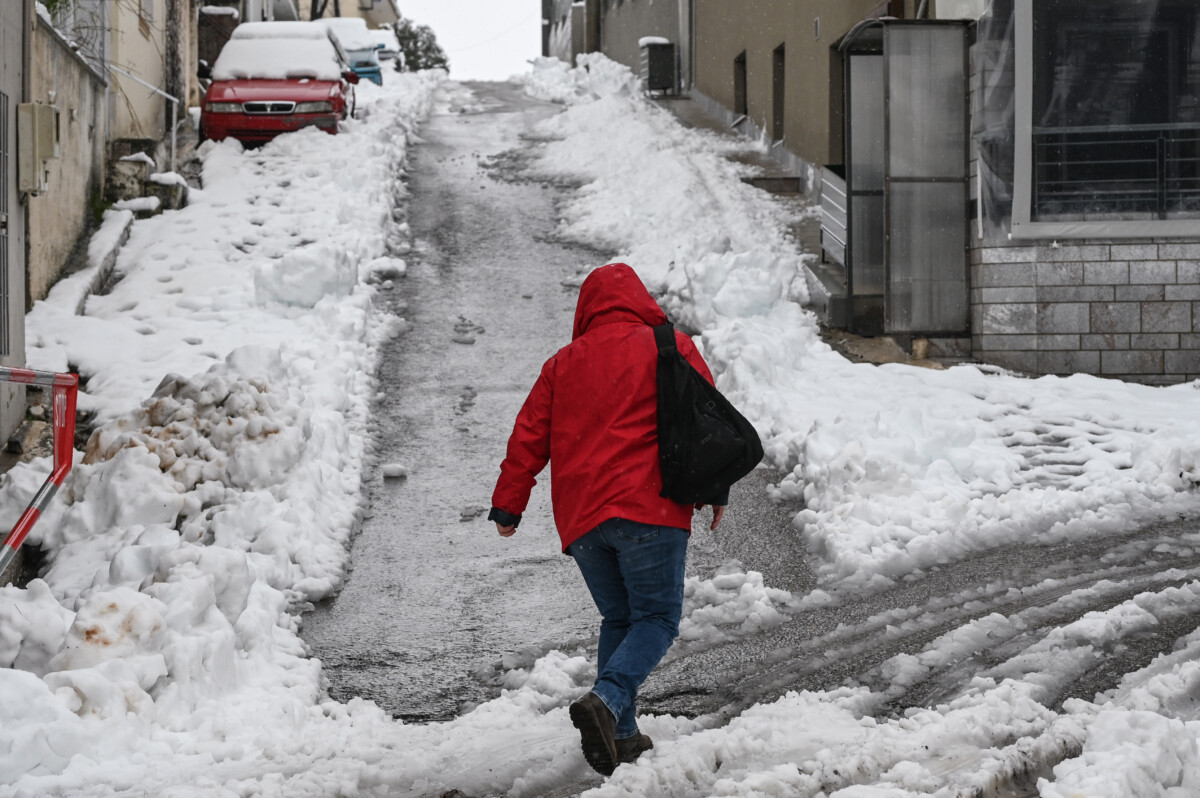
[{"label": "bright red hooded jacket worn by the walking person", "polygon": [[[623,263],[583,281],[571,343],[541,367],[517,414],[492,506],[521,515],[553,463],[551,500],[563,550],[608,518],[691,529],[690,504],[659,496],[658,347],[666,314]],[[709,383],[691,338],[679,352]]]}]

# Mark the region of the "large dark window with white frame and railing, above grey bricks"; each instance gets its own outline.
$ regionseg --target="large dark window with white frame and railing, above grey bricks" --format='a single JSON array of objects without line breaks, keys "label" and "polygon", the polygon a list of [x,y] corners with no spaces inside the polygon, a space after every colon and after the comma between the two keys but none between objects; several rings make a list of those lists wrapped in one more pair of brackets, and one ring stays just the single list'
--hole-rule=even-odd
[{"label": "large dark window with white frame and railing, above grey bricks", "polygon": [[1142,222],[1170,234],[1145,223],[1200,218],[1200,6],[1024,0],[1018,24],[1028,188],[1014,227],[1025,209],[1033,224],[1110,223],[1092,233],[1138,234],[1111,223]]}]

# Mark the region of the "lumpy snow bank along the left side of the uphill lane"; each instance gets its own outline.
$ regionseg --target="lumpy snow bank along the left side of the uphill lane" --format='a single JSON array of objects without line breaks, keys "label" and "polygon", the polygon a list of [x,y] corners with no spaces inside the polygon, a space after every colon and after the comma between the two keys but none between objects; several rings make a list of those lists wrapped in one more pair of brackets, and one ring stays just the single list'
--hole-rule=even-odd
[{"label": "lumpy snow bank along the left side of the uphill lane", "polygon": [[[343,578],[392,326],[358,276],[391,260],[408,134],[442,77],[396,80],[346,136],[206,144],[205,190],[134,223],[108,294],[30,313],[30,364],[77,366],[98,427],[30,535],[43,580],[0,589],[4,794],[326,794],[344,774],[313,769],[311,740],[355,714],[392,726],[323,706],[296,631]],[[7,475],[4,523],[48,468]],[[302,784],[271,787],[269,761]]]}]

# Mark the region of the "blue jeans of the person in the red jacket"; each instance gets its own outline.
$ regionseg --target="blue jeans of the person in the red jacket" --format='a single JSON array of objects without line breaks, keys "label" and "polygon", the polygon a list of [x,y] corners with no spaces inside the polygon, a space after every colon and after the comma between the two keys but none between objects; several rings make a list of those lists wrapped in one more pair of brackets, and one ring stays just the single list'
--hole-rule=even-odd
[{"label": "blue jeans of the person in the red jacket", "polygon": [[592,689],[637,734],[637,689],[679,635],[688,530],[610,518],[568,547],[604,620]]}]

